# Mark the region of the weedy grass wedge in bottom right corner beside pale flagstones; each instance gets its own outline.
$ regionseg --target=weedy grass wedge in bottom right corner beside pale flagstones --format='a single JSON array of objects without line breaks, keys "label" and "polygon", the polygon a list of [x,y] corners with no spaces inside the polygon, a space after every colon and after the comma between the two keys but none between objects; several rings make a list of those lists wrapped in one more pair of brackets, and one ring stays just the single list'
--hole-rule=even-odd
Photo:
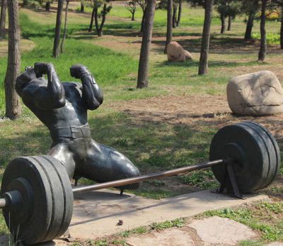
[{"label": "weedy grass wedge in bottom right corner beside pale flagstones", "polygon": [[266,242],[283,240],[283,203],[262,202],[246,208],[207,211],[206,216],[231,218],[257,230]]}]

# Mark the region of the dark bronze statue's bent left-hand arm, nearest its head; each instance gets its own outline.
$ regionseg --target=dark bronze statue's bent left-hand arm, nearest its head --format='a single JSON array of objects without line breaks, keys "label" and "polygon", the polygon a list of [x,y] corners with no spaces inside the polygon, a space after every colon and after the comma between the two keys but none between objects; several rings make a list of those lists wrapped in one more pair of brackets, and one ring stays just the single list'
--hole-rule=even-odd
[{"label": "dark bronze statue's bent left-hand arm, nearest its head", "polygon": [[47,87],[39,86],[34,91],[33,101],[38,108],[53,109],[62,108],[66,104],[64,86],[59,80],[54,66],[51,63],[35,63],[36,77],[42,77],[42,74],[47,74]]}]

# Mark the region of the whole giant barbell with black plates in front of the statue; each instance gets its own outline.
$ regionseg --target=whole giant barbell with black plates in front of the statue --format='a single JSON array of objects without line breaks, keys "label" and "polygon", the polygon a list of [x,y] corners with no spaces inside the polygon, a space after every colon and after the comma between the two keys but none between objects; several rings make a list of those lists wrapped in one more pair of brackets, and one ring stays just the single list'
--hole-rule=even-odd
[{"label": "whole giant barbell with black plates in front of the statue", "polygon": [[212,167],[221,184],[220,191],[225,188],[241,198],[241,194],[268,186],[275,179],[279,165],[278,144],[266,128],[253,122],[236,123],[226,125],[214,135],[209,162],[74,189],[66,169],[54,157],[18,157],[4,172],[0,208],[14,239],[33,245],[53,240],[68,229],[74,193]]}]

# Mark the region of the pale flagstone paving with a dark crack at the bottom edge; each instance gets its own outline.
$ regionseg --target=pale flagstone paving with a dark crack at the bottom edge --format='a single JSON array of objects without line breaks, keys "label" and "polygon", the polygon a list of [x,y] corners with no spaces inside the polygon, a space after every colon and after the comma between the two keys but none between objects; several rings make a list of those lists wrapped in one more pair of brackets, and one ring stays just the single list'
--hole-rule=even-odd
[{"label": "pale flagstone paving with a dark crack at the bottom edge", "polygon": [[233,246],[258,237],[246,225],[229,218],[213,216],[192,220],[183,228],[170,228],[127,238],[131,246]]}]

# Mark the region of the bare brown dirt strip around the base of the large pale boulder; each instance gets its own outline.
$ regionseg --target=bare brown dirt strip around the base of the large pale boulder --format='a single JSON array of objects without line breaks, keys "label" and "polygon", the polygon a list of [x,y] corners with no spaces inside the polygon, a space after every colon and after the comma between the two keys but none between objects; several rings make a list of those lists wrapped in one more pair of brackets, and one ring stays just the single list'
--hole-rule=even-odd
[{"label": "bare brown dirt strip around the base of the large pale boulder", "polygon": [[239,121],[255,121],[265,125],[277,140],[283,138],[283,114],[276,116],[235,116],[231,113],[225,96],[158,96],[149,99],[120,101],[110,104],[110,108],[127,112],[135,121],[159,121],[167,124],[186,124],[194,128],[200,122],[212,127]]}]

